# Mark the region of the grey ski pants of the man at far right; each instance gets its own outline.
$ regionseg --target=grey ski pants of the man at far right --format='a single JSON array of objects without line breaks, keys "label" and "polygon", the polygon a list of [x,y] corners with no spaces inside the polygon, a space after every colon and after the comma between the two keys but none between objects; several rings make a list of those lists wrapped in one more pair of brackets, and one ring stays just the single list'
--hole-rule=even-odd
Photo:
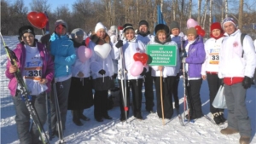
[{"label": "grey ski pants of the man at far right", "polygon": [[224,95],[228,107],[228,127],[238,130],[241,136],[251,137],[252,129],[246,107],[246,89],[241,83],[224,84]]}]

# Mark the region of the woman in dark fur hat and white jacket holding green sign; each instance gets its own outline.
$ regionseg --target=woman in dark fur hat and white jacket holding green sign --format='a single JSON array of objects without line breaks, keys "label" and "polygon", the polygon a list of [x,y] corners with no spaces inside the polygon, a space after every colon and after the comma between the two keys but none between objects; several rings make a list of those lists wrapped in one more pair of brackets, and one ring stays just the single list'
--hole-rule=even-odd
[{"label": "woman in dark fur hat and white jacket holding green sign", "polygon": [[[169,35],[169,27],[164,24],[159,24],[155,26],[154,32],[156,36],[154,37],[154,42],[150,44],[162,44],[162,45],[174,45],[177,47],[177,43],[171,41],[171,36]],[[173,107],[172,107],[172,90],[173,85],[176,81],[177,72],[180,70],[180,59],[179,51],[177,49],[177,65],[176,66],[152,66],[151,75],[154,79],[154,87],[156,90],[156,109],[159,118],[162,118],[161,111],[161,101],[160,101],[160,90],[162,90],[163,105],[164,105],[164,116],[167,119],[172,118]],[[160,89],[160,72],[162,75],[162,89]]]}]

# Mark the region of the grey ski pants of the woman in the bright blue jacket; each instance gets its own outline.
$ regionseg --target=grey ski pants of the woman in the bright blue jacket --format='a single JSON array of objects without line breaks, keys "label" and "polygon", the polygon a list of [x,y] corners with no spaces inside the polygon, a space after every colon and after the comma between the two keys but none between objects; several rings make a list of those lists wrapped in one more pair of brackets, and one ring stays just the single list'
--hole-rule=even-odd
[{"label": "grey ski pants of the woman in the bright blue jacket", "polygon": [[[65,123],[66,123],[66,117],[67,117],[67,99],[69,94],[71,84],[71,78],[63,81],[63,82],[57,82],[56,85],[56,91],[57,91],[57,98],[59,102],[59,109],[61,114],[61,126],[62,130],[65,130]],[[54,89],[51,90],[51,101],[52,101],[52,107],[51,107],[51,130],[54,133],[57,129],[56,123],[56,111],[55,111],[55,96],[54,96]]]}]

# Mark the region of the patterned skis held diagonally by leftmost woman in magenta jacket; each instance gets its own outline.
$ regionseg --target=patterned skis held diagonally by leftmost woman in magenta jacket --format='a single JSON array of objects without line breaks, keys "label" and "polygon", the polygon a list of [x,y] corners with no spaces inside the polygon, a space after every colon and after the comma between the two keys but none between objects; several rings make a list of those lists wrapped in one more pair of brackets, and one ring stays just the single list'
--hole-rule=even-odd
[{"label": "patterned skis held diagonally by leftmost woman in magenta jacket", "polygon": [[[2,37],[2,40],[3,40],[3,36],[1,34],[1,37]],[[13,65],[13,66],[17,66],[17,57],[15,55],[15,52],[12,51],[11,49],[9,49],[8,46],[4,46],[4,49],[6,51],[6,54],[8,55],[9,57],[9,60],[10,60],[10,63]],[[27,110],[28,112],[30,113],[30,115],[32,116],[32,124],[35,124],[37,129],[38,129],[38,132],[40,134],[40,139],[41,141],[44,143],[44,144],[49,144],[49,139],[45,133],[45,130],[44,130],[44,127],[43,125],[41,124],[39,118],[38,118],[38,113],[37,111],[34,109],[34,107],[32,106],[32,96],[29,95],[29,91],[27,90],[26,88],[26,84],[22,78],[22,75],[21,75],[21,72],[20,70],[18,69],[17,72],[14,73],[15,74],[15,78],[17,79],[17,82],[18,82],[18,86],[20,86],[20,92],[21,92],[21,99],[25,102],[26,104],[26,107],[27,107]],[[44,136],[43,136],[43,133],[45,135],[45,139],[44,139]]]}]

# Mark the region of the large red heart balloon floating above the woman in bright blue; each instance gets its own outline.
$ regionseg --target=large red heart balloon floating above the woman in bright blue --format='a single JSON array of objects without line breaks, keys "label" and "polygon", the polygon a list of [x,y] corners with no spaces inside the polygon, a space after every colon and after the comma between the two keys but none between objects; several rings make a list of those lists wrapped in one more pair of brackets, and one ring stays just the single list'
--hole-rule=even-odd
[{"label": "large red heart balloon floating above the woman in bright blue", "polygon": [[35,26],[39,29],[44,28],[48,21],[46,15],[41,12],[30,12],[27,14],[26,18],[32,24],[32,26]]}]

